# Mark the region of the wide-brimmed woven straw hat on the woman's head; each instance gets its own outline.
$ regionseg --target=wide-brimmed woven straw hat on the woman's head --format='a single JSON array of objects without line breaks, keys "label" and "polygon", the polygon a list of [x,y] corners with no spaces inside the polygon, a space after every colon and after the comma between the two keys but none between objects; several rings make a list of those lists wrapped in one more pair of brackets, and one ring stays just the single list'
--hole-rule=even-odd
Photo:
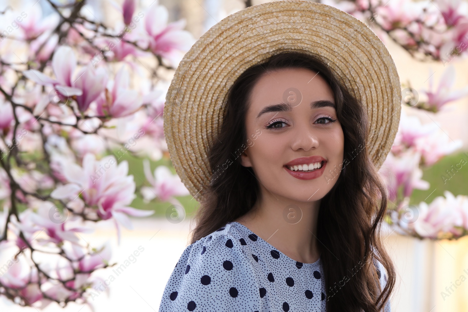
[{"label": "wide-brimmed woven straw hat on the woman's head", "polygon": [[166,95],[164,134],[177,174],[198,201],[209,185],[208,143],[219,133],[227,92],[247,68],[280,51],[319,55],[367,109],[377,168],[395,139],[401,85],[385,45],[335,7],[302,0],[263,3],[227,16],[179,63]]}]

